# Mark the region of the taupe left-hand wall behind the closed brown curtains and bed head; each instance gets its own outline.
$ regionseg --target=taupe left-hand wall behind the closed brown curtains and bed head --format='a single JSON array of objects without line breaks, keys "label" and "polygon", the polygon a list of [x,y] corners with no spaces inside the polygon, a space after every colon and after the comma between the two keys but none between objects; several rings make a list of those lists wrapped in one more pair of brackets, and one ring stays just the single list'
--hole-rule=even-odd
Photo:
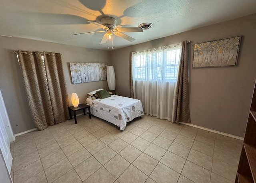
[{"label": "taupe left-hand wall behind the closed brown curtains and bed head", "polygon": [[69,62],[107,63],[110,65],[110,52],[96,49],[87,49],[30,39],[0,36],[0,88],[10,118],[14,134],[30,130],[34,127],[26,94],[24,91],[22,76],[16,55],[13,51],[46,51],[62,53],[62,63],[71,104],[71,93],[76,92],[79,102],[85,102],[87,92],[98,88],[108,89],[106,81],[72,84]]}]

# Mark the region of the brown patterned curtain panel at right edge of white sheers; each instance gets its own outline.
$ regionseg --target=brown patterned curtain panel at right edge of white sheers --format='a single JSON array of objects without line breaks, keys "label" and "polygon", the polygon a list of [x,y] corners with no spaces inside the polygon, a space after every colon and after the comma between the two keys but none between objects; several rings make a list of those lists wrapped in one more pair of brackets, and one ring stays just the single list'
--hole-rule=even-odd
[{"label": "brown patterned curtain panel at right edge of white sheers", "polygon": [[175,94],[173,122],[191,123],[188,100],[188,43],[182,42],[182,51]]}]

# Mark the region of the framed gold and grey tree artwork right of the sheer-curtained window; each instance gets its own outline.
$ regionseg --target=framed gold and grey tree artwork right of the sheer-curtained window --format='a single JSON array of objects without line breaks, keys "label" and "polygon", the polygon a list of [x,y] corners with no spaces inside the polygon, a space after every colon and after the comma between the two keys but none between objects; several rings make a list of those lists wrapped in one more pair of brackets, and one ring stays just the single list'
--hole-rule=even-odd
[{"label": "framed gold and grey tree artwork right of the sheer-curtained window", "polygon": [[236,66],[241,36],[194,45],[193,68]]}]

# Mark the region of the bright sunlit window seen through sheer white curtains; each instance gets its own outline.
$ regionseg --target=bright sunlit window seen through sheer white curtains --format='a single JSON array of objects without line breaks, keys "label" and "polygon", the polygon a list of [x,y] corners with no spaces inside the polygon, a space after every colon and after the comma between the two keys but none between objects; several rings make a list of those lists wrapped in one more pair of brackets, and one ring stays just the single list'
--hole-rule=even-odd
[{"label": "bright sunlit window seen through sheer white curtains", "polygon": [[134,80],[148,81],[176,81],[180,48],[167,51],[143,51],[141,54],[134,53],[132,57]]}]

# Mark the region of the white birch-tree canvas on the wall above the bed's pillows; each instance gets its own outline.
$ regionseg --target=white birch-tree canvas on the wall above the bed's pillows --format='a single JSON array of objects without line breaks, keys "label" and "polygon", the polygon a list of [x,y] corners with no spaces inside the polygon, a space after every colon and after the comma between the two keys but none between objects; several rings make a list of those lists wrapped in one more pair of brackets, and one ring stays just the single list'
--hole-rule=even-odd
[{"label": "white birch-tree canvas on the wall above the bed's pillows", "polygon": [[106,63],[70,62],[72,84],[103,81],[107,79]]}]

